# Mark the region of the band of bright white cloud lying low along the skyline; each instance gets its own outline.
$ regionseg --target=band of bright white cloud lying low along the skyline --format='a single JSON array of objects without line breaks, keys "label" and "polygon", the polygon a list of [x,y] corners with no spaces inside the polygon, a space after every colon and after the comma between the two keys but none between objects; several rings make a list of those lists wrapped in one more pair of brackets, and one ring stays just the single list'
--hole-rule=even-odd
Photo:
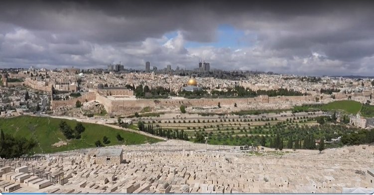
[{"label": "band of bright white cloud lying low along the skyline", "polygon": [[[167,39],[148,38],[140,43],[129,45],[100,45],[89,42],[80,42],[77,45],[51,44],[36,38],[30,31],[18,29],[13,33],[7,33],[1,38],[3,40],[1,60],[14,59],[16,55],[22,54],[23,64],[16,61],[17,65],[24,67],[35,66],[45,68],[52,66],[75,66],[82,68],[101,67],[106,68],[108,64],[120,61],[128,68],[144,69],[145,61],[150,61],[151,66],[159,68],[171,64],[173,68],[193,69],[198,66],[200,57],[211,63],[212,68],[225,68],[237,70],[273,71],[279,73],[308,72],[321,74],[334,69],[335,72],[344,74],[348,71],[344,63],[339,60],[324,59],[326,57],[318,52],[311,52],[309,57],[287,59],[276,57],[275,51],[266,50],[263,47],[244,47],[241,49],[214,48],[214,47],[184,47],[185,40],[181,33],[176,37]],[[20,49],[23,48],[22,49]],[[45,51],[46,54],[42,54]],[[69,54],[69,52],[70,54]],[[63,54],[63,60],[62,55]],[[48,56],[46,59],[35,59],[35,56]],[[62,62],[58,62],[62,60]],[[365,58],[364,65],[370,65],[373,57]],[[56,63],[58,62],[58,64]],[[14,62],[5,62],[8,67],[15,66]],[[365,74],[366,68],[358,69],[350,74]]]}]

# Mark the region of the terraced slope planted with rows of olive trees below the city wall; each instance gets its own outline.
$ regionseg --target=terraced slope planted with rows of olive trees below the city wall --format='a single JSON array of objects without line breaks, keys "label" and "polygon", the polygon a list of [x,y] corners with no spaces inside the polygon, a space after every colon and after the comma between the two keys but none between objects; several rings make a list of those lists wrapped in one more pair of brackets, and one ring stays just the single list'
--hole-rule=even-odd
[{"label": "terraced slope planted with rows of olive trees below the city wall", "polygon": [[[302,148],[304,139],[307,137],[311,137],[313,140],[324,137],[331,141],[343,133],[357,130],[347,127],[345,124],[334,124],[328,116],[326,116],[326,120],[330,121],[325,121],[325,119],[321,121],[320,116],[323,114],[319,113],[295,113],[294,116],[280,114],[278,117],[219,116],[216,119],[207,119],[208,117],[201,116],[199,119],[144,119],[141,122],[146,130],[152,128],[154,131],[157,129],[166,131],[164,133],[166,137],[170,135],[172,138],[180,138],[178,135],[187,134],[190,140],[196,141],[195,138],[202,135],[208,139],[209,144],[259,144],[267,147],[272,146],[276,135],[283,139],[285,147]],[[329,124],[325,124],[326,122]],[[134,124],[131,128],[137,129],[138,126]],[[292,146],[288,143],[289,140],[291,140]],[[329,145],[329,147],[336,146]]]}]

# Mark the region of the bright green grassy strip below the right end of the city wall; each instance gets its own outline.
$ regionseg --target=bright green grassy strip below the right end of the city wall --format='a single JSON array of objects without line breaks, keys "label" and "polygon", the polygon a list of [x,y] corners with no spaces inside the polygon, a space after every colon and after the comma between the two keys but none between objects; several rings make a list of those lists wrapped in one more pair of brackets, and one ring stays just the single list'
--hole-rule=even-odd
[{"label": "bright green grassy strip below the right end of the city wall", "polygon": [[303,112],[303,111],[331,111],[340,110],[349,114],[357,114],[361,109],[362,104],[354,100],[340,100],[333,101],[327,104],[313,104],[313,105],[303,105],[295,106],[293,112]]}]

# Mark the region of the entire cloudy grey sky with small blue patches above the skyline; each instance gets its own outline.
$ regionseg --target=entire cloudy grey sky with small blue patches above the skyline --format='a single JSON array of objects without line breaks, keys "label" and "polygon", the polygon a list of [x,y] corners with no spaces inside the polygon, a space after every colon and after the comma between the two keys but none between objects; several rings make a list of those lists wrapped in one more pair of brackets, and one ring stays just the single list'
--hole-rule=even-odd
[{"label": "entire cloudy grey sky with small blue patches above the skyline", "polygon": [[360,0],[0,2],[0,67],[211,68],[374,75],[374,3]]}]

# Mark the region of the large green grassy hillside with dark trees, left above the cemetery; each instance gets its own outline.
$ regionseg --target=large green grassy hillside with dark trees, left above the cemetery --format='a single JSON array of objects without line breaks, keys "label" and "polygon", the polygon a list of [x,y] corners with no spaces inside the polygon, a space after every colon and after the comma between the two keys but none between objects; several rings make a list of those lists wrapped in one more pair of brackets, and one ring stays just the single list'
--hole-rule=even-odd
[{"label": "large green grassy hillside with dark trees, left above the cemetery", "polygon": [[[14,136],[22,136],[26,138],[34,137],[38,141],[39,146],[34,149],[35,153],[51,153],[65,150],[74,150],[80,148],[96,147],[95,141],[103,142],[103,137],[107,136],[110,145],[121,144],[117,138],[117,133],[120,133],[124,138],[125,144],[143,144],[155,143],[161,140],[140,135],[137,133],[126,132],[120,129],[114,129],[99,124],[83,123],[86,130],[81,134],[80,139],[66,140],[59,129],[59,123],[64,119],[34,117],[34,116],[18,116],[15,118],[1,119],[0,127],[5,134],[12,134]],[[78,123],[75,120],[64,120],[73,129]],[[54,147],[53,144],[59,141],[67,141],[68,145],[61,147]]]}]

